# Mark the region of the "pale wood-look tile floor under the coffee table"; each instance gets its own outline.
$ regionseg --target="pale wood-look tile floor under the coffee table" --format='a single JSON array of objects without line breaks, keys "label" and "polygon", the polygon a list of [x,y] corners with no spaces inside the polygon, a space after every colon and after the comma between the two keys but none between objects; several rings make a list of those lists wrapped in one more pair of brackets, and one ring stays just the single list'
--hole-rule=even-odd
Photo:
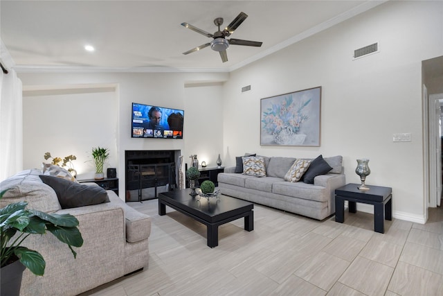
[{"label": "pale wood-look tile floor under the coffee table", "polygon": [[206,246],[206,227],[157,200],[129,205],[152,216],[150,265],[86,295],[443,295],[443,209],[425,225],[345,214],[312,220],[255,205],[254,231],[243,219],[219,227]]}]

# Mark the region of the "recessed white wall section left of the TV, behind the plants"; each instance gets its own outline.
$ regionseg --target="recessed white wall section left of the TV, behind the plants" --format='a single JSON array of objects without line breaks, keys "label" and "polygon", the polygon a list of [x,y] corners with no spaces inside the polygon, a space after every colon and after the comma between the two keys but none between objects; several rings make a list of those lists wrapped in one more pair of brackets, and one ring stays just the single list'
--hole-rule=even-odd
[{"label": "recessed white wall section left of the TV, behind the plants", "polygon": [[25,91],[23,102],[24,168],[41,168],[42,162],[51,162],[44,159],[46,152],[62,159],[75,155],[78,179],[91,179],[96,169],[91,150],[98,146],[109,149],[104,172],[117,166],[115,87]]}]

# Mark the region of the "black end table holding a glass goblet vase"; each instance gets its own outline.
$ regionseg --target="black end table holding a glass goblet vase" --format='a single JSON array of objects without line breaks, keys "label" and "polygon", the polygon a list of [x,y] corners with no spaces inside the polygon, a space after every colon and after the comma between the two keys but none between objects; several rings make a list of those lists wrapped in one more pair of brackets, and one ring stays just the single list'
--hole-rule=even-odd
[{"label": "black end table holding a glass goblet vase", "polygon": [[360,184],[346,184],[335,190],[335,220],[345,220],[345,200],[348,201],[350,213],[356,213],[356,202],[374,205],[374,231],[385,232],[384,220],[392,220],[392,188],[366,185],[370,189],[360,191]]}]

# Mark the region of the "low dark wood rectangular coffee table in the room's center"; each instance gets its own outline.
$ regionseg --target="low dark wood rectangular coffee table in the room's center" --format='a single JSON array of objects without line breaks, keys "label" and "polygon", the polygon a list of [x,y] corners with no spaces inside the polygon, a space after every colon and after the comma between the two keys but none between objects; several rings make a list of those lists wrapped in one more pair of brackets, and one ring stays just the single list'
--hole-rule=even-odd
[{"label": "low dark wood rectangular coffee table in the room's center", "polygon": [[207,227],[208,247],[219,245],[219,225],[244,217],[244,229],[254,230],[254,204],[226,195],[217,198],[200,198],[189,193],[191,189],[182,189],[159,193],[159,215],[166,214],[166,206],[176,209]]}]

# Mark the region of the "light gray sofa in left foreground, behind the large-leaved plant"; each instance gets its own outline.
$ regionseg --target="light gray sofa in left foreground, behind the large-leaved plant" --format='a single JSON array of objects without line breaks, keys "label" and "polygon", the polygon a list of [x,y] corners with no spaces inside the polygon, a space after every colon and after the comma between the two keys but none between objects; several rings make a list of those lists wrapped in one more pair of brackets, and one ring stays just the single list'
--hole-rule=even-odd
[{"label": "light gray sofa in left foreground, behind the large-leaved plant", "polygon": [[74,247],[74,259],[51,234],[26,238],[24,245],[42,254],[46,269],[42,277],[25,270],[20,295],[78,295],[147,266],[150,216],[127,206],[114,191],[107,191],[109,202],[61,209],[55,191],[39,175],[42,171],[32,169],[1,182],[1,190],[10,190],[0,206],[25,200],[28,209],[71,214],[80,222],[84,243]]}]

